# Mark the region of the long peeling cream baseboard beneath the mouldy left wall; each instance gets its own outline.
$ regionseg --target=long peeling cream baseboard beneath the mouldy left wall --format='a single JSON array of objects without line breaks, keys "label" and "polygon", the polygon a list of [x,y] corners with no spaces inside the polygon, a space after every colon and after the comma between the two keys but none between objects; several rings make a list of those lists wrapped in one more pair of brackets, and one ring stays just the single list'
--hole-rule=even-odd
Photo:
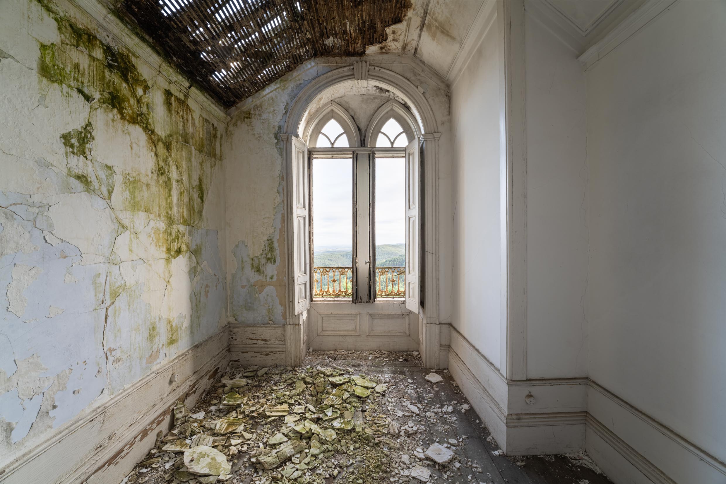
[{"label": "long peeling cream baseboard beneath the mouldy left wall", "polygon": [[[227,327],[195,345],[110,400],[73,419],[44,443],[10,462],[3,484],[89,483],[123,480],[171,429],[171,409],[193,406],[229,363]],[[171,375],[179,379],[171,382]]]}]

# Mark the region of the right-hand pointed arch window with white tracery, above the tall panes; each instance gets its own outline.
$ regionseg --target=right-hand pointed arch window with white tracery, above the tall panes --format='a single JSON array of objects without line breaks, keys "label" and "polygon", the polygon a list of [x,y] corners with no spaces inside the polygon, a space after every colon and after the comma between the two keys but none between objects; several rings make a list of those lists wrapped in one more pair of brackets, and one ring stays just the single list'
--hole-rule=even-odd
[{"label": "right-hand pointed arch window with white tracery, above the tall panes", "polygon": [[389,101],[373,115],[366,142],[372,148],[405,148],[416,137],[410,113],[399,102]]}]

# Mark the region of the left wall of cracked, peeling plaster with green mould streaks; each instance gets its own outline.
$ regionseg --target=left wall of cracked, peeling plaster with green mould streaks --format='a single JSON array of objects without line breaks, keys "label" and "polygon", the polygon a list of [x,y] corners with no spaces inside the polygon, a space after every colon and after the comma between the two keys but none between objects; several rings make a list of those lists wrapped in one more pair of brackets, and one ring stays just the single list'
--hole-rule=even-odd
[{"label": "left wall of cracked, peeling plaster with green mould streaks", "polygon": [[224,123],[159,67],[0,2],[0,467],[226,324]]}]

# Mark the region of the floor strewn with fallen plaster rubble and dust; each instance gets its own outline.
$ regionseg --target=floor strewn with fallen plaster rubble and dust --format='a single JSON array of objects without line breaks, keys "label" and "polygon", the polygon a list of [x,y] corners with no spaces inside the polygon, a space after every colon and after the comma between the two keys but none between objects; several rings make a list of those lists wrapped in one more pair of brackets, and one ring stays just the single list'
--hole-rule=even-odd
[{"label": "floor strewn with fallen plaster rubble and dust", "polygon": [[[432,374],[433,373],[433,374]],[[604,484],[587,454],[502,455],[446,370],[417,353],[310,353],[230,368],[122,484]]]}]

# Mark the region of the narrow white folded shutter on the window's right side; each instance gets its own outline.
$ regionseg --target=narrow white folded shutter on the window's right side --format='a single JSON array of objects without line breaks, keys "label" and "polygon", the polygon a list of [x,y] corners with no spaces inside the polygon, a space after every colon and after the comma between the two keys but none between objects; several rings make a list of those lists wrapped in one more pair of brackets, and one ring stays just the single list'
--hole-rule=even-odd
[{"label": "narrow white folded shutter on the window's right side", "polygon": [[406,307],[418,313],[421,292],[421,181],[418,139],[406,147]]}]

